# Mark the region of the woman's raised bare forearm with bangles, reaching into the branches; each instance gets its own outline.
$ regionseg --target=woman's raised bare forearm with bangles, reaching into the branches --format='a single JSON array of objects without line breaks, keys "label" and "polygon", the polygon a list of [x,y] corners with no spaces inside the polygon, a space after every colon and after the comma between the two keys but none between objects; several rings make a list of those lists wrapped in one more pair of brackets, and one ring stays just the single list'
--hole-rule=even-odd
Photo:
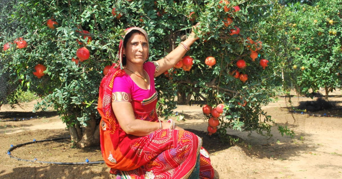
[{"label": "woman's raised bare forearm with bangles, reaching into the branches", "polygon": [[[189,35],[189,37],[183,41],[183,43],[185,43],[185,45],[188,47],[190,47],[197,39],[199,39],[198,37],[194,38],[195,37],[194,28],[196,27],[197,27],[197,24],[192,27],[192,32]],[[164,58],[158,60],[157,62],[159,65],[159,71],[156,73],[155,77],[161,75],[168,69],[172,68],[175,64],[177,64],[181,60],[181,58],[185,55],[186,52],[187,50],[184,47],[178,46],[173,51],[171,51],[168,55],[166,55]]]}]

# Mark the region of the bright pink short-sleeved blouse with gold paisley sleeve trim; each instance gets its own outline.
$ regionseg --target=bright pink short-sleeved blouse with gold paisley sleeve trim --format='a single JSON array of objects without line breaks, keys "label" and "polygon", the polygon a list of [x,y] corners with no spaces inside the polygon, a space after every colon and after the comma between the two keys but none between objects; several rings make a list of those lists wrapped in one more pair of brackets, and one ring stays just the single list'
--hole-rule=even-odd
[{"label": "bright pink short-sleeved blouse with gold paisley sleeve trim", "polygon": [[150,98],[156,92],[154,85],[154,73],[156,70],[156,66],[152,62],[146,62],[143,64],[143,69],[147,73],[146,75],[148,76],[150,81],[149,89],[140,88],[135,84],[135,82],[129,75],[124,74],[114,79],[112,92],[129,93],[131,95],[131,99],[137,101],[143,101],[144,99]]}]

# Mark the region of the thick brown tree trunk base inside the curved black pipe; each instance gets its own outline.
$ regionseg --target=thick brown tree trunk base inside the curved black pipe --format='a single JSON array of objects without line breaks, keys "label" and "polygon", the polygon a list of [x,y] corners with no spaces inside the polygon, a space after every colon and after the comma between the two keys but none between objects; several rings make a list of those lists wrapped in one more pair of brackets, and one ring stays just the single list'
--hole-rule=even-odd
[{"label": "thick brown tree trunk base inside the curved black pipe", "polygon": [[69,134],[78,148],[100,145],[100,125],[97,124],[95,114],[90,115],[87,127],[69,126]]}]

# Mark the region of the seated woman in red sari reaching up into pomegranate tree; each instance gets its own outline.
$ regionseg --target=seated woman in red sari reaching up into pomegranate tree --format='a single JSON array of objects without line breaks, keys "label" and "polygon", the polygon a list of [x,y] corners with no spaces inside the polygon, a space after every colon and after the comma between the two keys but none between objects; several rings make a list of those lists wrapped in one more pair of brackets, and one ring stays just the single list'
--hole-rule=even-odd
[{"label": "seated woman in red sari reaching up into pomegranate tree", "polygon": [[148,37],[138,27],[126,29],[113,64],[100,86],[100,140],[110,173],[132,179],[211,179],[214,170],[201,139],[162,123],[156,114],[154,77],[172,68],[198,38],[189,37],[163,59],[145,62]]}]

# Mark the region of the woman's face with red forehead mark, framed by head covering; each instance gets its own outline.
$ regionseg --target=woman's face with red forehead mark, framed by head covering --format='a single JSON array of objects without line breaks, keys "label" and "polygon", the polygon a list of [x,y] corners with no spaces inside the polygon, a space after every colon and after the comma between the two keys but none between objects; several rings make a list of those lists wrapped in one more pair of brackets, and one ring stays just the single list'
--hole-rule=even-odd
[{"label": "woman's face with red forehead mark, framed by head covering", "polygon": [[142,33],[133,33],[123,49],[127,64],[143,64],[148,55],[148,44]]}]

